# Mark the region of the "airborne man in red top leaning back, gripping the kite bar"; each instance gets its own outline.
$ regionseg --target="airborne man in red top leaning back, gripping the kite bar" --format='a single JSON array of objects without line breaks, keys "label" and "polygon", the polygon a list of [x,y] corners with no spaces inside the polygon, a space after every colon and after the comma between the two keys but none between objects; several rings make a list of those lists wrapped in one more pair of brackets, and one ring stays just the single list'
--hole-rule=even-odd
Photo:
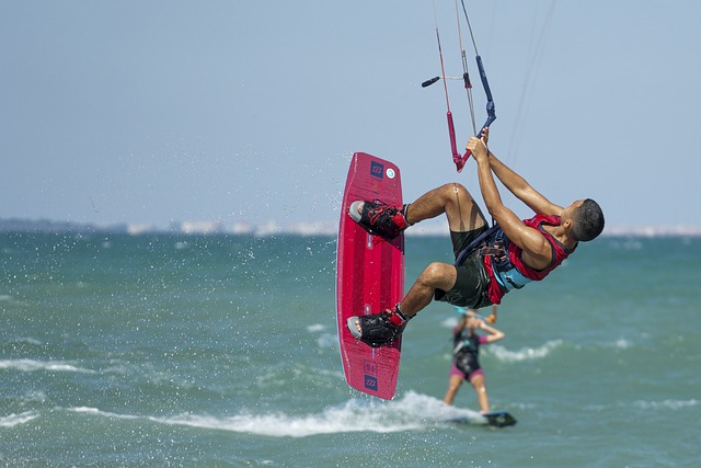
[{"label": "airborne man in red top leaning back, gripping the kite bar", "polygon": [[[434,189],[404,206],[380,201],[357,201],[349,216],[368,232],[391,240],[407,227],[446,214],[456,263],[430,263],[393,309],[352,317],[350,333],[371,346],[394,341],[406,322],[433,299],[455,306],[480,308],[501,304],[512,289],[544,278],[574,252],[579,241],[595,239],[604,230],[604,213],[590,199],[566,207],[553,204],[489,149],[489,128],[470,138],[467,149],[476,161],[482,198],[495,221],[490,228],[480,207],[459,183]],[[521,220],[506,207],[494,175],[536,216]]]}]

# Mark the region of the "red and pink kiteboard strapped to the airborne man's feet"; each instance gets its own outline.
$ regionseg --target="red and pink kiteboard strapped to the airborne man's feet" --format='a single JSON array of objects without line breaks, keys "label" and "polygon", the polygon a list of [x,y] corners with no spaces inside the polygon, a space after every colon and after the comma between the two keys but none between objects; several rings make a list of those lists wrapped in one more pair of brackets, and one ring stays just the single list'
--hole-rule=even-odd
[{"label": "red and pink kiteboard strapped to the airborne man's feet", "polygon": [[399,168],[365,152],[353,155],[341,207],[336,259],[336,320],[341,361],[348,385],[391,400],[397,389],[401,336],[389,346],[371,347],[346,327],[353,316],[394,307],[404,294],[404,235],[392,241],[368,233],[348,215],[355,201],[380,199],[402,205]]}]

